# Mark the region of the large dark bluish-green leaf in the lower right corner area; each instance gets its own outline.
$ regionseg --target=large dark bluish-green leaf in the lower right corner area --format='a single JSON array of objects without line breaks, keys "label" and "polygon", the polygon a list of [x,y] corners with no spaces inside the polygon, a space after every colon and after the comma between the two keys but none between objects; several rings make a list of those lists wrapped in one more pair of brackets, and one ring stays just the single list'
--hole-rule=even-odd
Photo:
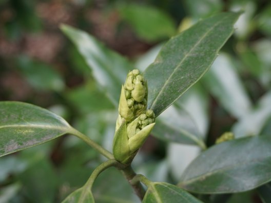
[{"label": "large dark bluish-green leaf in the lower right corner area", "polygon": [[235,193],[271,180],[271,137],[225,141],[201,153],[186,168],[179,186],[195,193]]}]

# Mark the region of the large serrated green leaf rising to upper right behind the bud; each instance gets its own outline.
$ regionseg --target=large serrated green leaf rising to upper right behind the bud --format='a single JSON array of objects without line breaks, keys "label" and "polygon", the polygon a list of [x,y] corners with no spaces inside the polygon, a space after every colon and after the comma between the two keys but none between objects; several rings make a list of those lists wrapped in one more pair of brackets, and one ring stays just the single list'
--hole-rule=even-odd
[{"label": "large serrated green leaf rising to upper right behind the bud", "polygon": [[233,33],[239,13],[206,18],[171,38],[144,72],[148,81],[148,108],[162,113],[208,70]]}]

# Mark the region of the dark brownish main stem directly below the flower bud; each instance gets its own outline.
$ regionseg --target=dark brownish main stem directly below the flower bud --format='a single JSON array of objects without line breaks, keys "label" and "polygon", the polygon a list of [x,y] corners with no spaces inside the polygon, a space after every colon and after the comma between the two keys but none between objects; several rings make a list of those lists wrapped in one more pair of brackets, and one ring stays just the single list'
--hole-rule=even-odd
[{"label": "dark brownish main stem directly below the flower bud", "polygon": [[126,179],[129,181],[130,185],[132,186],[135,194],[138,195],[138,197],[143,200],[144,195],[146,193],[145,189],[143,188],[142,184],[137,181],[134,182],[132,179],[137,176],[137,174],[133,171],[131,166],[126,167],[125,169],[122,170],[122,173],[126,177]]}]

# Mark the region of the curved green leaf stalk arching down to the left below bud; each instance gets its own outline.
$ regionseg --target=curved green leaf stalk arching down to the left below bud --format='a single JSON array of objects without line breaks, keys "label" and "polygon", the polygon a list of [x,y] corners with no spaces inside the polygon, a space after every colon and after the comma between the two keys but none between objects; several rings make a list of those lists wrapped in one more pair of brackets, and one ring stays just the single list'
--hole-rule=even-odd
[{"label": "curved green leaf stalk arching down to the left below bud", "polygon": [[125,166],[122,165],[121,163],[119,163],[115,159],[109,159],[109,160],[105,161],[104,163],[102,163],[101,165],[99,165],[98,167],[96,167],[94,169],[94,171],[92,172],[92,174],[88,178],[88,181],[86,182],[84,187],[89,188],[89,190],[91,190],[95,179],[99,176],[100,173],[102,173],[104,170],[108,169],[109,167],[124,168]]}]

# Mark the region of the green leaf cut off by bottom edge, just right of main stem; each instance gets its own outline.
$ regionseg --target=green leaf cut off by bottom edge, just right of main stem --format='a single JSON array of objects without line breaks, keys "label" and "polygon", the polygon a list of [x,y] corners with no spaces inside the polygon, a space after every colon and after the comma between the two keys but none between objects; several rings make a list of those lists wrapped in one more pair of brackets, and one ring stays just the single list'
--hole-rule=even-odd
[{"label": "green leaf cut off by bottom edge, just right of main stem", "polygon": [[188,192],[167,182],[151,182],[142,201],[143,203],[202,203]]}]

